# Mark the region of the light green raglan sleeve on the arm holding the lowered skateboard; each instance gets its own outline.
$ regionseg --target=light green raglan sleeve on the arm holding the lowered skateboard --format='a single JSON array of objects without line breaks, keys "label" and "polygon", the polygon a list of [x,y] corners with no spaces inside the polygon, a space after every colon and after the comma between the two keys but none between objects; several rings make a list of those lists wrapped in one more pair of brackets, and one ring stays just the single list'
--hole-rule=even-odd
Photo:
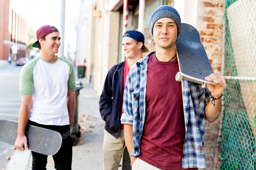
[{"label": "light green raglan sleeve on the arm holding the lowered skateboard", "polygon": [[33,95],[34,89],[34,78],[33,78],[34,67],[31,64],[25,64],[20,71],[19,76],[19,92],[21,97]]}]

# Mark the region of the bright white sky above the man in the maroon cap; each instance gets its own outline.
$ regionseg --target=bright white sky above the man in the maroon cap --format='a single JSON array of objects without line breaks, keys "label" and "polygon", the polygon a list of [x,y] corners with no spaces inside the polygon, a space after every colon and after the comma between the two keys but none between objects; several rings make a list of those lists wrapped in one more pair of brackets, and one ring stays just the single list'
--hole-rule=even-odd
[{"label": "bright white sky above the man in the maroon cap", "polygon": [[[61,31],[61,6],[61,0],[10,0],[10,7],[27,21],[26,27],[33,27],[35,31],[43,25],[53,25]],[[79,14],[80,0],[66,0],[65,7],[64,52],[68,43],[74,52],[77,24],[75,18]]]}]

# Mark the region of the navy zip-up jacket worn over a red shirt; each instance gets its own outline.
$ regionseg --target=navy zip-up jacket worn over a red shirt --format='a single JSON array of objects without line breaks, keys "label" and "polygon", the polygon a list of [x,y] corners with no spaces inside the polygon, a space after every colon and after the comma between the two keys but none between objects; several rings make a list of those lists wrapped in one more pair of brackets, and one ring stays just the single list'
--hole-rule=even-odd
[{"label": "navy zip-up jacket worn over a red shirt", "polygon": [[105,129],[115,138],[118,138],[121,128],[123,77],[124,62],[121,62],[109,70],[99,102],[101,117],[106,122]]}]

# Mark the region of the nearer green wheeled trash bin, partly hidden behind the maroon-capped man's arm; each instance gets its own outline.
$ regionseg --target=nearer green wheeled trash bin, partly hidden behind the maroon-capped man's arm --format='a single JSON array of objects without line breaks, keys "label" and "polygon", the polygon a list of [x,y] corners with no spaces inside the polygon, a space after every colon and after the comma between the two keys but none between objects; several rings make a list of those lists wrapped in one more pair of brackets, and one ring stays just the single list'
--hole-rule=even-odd
[{"label": "nearer green wheeled trash bin, partly hidden behind the maroon-capped man's arm", "polygon": [[71,138],[73,141],[73,145],[75,146],[78,142],[78,138],[80,137],[80,126],[78,124],[78,96],[79,96],[79,90],[84,87],[82,82],[76,82],[76,106],[75,106],[75,113],[74,113],[74,124],[73,124],[73,131],[71,134]]}]

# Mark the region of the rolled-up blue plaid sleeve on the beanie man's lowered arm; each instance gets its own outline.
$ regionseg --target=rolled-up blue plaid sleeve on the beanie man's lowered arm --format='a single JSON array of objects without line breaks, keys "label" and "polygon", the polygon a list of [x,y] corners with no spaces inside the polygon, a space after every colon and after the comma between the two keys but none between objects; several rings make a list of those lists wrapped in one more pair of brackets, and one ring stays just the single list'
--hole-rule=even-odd
[{"label": "rolled-up blue plaid sleeve on the beanie man's lowered arm", "polygon": [[127,79],[124,87],[123,96],[123,114],[121,116],[122,124],[133,125],[133,111],[132,111],[132,84],[130,72],[127,75]]}]

